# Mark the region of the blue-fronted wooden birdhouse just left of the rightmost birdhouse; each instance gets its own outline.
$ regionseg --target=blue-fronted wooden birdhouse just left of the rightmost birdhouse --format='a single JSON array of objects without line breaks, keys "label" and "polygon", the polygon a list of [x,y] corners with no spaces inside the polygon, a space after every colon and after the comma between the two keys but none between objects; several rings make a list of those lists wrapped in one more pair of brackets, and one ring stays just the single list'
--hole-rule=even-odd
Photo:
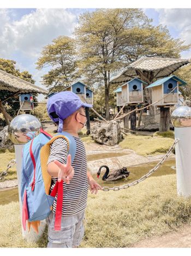
[{"label": "blue-fronted wooden birdhouse just left of the rightmost birdhouse", "polygon": [[144,102],[143,87],[147,84],[138,78],[134,78],[117,88],[117,106],[131,105]]}]

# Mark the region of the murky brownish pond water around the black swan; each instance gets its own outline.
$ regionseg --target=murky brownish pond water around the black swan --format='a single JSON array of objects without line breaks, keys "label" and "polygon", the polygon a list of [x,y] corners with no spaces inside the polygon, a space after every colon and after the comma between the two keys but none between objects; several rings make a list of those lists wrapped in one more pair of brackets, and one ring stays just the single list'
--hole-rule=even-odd
[{"label": "murky brownish pond water around the black swan", "polygon": [[[92,155],[91,155],[92,156]],[[95,156],[96,157],[96,156]],[[151,162],[147,164],[141,164],[140,166],[134,166],[127,168],[130,172],[130,175],[126,179],[118,180],[118,181],[103,181],[102,176],[105,173],[105,170],[103,169],[103,172],[100,174],[100,178],[97,179],[97,175],[93,174],[93,178],[101,185],[101,186],[122,186],[124,184],[132,183],[134,180],[141,178],[143,175],[149,172],[154,166],[156,166],[158,162]],[[162,175],[168,175],[168,174],[175,174],[176,173],[176,163],[175,159],[165,161],[162,166],[160,166],[155,173],[153,173],[150,177],[156,177],[156,176],[162,176]],[[148,179],[150,178],[148,177]],[[0,191],[0,205],[1,204],[7,204],[12,201],[19,201],[19,195],[18,195],[18,188],[14,189],[7,189],[7,190],[1,190]]]}]

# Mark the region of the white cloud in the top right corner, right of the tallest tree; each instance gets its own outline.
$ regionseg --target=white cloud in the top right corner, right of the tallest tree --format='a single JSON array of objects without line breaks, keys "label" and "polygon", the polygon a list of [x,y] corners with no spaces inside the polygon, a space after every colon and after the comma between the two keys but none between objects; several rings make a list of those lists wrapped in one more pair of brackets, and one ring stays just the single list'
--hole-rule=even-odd
[{"label": "white cloud in the top right corner, right of the tallest tree", "polygon": [[156,9],[156,11],[159,13],[160,24],[174,28],[185,44],[191,43],[191,9]]}]

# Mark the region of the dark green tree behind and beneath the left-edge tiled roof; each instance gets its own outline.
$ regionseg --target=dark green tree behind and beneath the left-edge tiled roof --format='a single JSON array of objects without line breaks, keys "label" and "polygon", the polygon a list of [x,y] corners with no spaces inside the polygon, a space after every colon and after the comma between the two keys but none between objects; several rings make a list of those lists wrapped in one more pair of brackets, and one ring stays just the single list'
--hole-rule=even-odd
[{"label": "dark green tree behind and beneath the left-edge tiled roof", "polygon": [[[14,75],[16,77],[19,77],[27,82],[35,83],[34,79],[32,78],[32,75],[28,71],[22,71],[20,72],[19,69],[16,69],[15,67],[16,61],[14,60],[7,60],[7,59],[1,59],[0,58],[0,70],[3,70],[7,73],[10,73],[11,75]],[[0,101],[1,104],[3,104],[3,107],[5,111],[10,115],[10,117],[14,117],[17,114],[17,111],[20,108],[20,103],[15,102],[19,101],[19,95],[13,96],[10,98],[10,91],[9,90],[2,90],[0,91]],[[34,101],[37,101],[37,98],[34,96]],[[0,107],[1,109],[1,107]],[[0,120],[0,125],[5,125],[6,122]]]}]

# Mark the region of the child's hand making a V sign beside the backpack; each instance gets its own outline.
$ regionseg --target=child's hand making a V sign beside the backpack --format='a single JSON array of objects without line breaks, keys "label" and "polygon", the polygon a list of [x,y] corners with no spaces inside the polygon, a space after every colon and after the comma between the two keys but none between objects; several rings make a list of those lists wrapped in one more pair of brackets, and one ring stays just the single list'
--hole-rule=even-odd
[{"label": "child's hand making a V sign beside the backpack", "polygon": [[57,160],[55,160],[54,163],[59,167],[58,182],[63,180],[65,183],[69,184],[70,179],[72,179],[74,176],[74,169],[71,166],[71,155],[68,155],[66,164],[63,164]]}]

